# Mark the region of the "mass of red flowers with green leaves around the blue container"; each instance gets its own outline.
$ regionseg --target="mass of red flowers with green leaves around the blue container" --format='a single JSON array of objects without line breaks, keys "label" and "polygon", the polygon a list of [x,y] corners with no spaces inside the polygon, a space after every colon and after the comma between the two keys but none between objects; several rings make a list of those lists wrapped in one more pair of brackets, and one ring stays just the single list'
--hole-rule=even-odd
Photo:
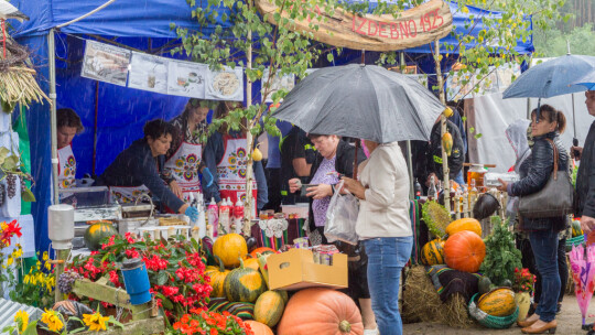
[{"label": "mass of red flowers with green leaves around the blue container", "polygon": [[[111,285],[123,288],[118,263],[127,258],[141,258],[147,264],[158,306],[173,320],[190,310],[206,309],[213,288],[201,257],[201,247],[194,239],[188,241],[177,236],[170,241],[144,240],[126,234],[112,236],[101,250],[93,251],[89,257],[75,257],[73,266],[66,270],[91,281],[107,275]],[[102,304],[107,307],[107,303]]]}]

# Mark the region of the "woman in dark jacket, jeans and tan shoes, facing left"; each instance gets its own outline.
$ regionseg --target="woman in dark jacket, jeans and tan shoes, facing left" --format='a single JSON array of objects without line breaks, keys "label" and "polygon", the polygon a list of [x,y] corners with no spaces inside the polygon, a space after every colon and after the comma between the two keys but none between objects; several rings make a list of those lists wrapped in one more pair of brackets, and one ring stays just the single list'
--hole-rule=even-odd
[{"label": "woman in dark jacket, jeans and tan shoes, facing left", "polygon": [[[539,121],[538,121],[539,116]],[[507,191],[509,196],[523,196],[540,192],[553,171],[554,151],[551,143],[558,148],[558,169],[569,169],[569,154],[560,140],[566,119],[555,108],[543,105],[540,112],[531,112],[531,133],[533,148],[531,151],[529,172],[520,181],[507,184],[501,182],[500,191]],[[551,141],[550,141],[551,140]],[[555,312],[560,294],[560,275],[558,271],[558,234],[566,226],[566,216],[548,218],[526,218],[521,216],[520,228],[528,233],[536,264],[542,280],[542,293],[536,313],[519,322],[522,333],[542,334],[555,332],[558,326]]]}]

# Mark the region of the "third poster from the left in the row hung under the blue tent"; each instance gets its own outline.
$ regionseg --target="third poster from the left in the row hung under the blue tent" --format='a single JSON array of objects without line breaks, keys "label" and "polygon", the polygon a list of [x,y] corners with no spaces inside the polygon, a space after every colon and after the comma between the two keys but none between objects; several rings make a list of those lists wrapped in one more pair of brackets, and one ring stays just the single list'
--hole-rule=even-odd
[{"label": "third poster from the left in the row hung under the blue tent", "polygon": [[205,98],[208,66],[199,63],[170,61],[167,94],[191,98]]}]

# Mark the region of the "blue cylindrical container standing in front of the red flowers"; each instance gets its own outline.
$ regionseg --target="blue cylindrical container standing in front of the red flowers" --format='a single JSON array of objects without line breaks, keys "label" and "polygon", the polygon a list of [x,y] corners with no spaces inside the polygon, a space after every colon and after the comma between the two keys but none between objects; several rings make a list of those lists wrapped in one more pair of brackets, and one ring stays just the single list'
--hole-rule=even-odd
[{"label": "blue cylindrical container standing in front of the red flowers", "polygon": [[140,258],[127,259],[122,262],[126,292],[130,295],[130,304],[140,305],[151,301],[151,284],[147,266]]}]

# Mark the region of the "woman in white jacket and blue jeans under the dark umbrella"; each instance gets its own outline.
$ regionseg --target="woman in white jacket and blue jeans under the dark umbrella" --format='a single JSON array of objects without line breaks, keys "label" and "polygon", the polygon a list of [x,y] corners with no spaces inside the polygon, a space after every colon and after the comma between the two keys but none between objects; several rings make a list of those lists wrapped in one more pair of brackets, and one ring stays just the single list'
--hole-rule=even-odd
[{"label": "woman in white jacket and blue jeans under the dark umbrella", "polygon": [[365,143],[370,158],[360,164],[359,181],[344,181],[360,199],[356,231],[368,255],[368,285],[378,329],[381,335],[400,335],[399,282],[413,245],[409,175],[397,142]]}]

